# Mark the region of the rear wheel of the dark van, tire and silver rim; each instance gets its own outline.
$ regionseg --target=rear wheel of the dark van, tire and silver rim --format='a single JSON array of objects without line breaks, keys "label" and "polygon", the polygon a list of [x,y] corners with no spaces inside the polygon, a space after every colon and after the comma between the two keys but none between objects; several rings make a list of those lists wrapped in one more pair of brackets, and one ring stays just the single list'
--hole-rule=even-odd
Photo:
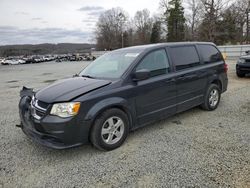
[{"label": "rear wheel of the dark van, tire and silver rim", "polygon": [[204,103],[201,105],[201,107],[204,110],[212,111],[215,110],[219,103],[220,103],[220,97],[221,97],[221,90],[216,84],[211,84],[204,97]]}]

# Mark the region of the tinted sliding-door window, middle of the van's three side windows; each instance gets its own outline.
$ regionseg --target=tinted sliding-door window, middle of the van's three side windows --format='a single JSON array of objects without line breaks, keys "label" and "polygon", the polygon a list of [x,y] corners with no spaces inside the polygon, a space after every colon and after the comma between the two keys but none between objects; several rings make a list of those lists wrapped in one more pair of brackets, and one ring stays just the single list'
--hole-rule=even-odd
[{"label": "tinted sliding-door window, middle of the van's three side windows", "polygon": [[200,65],[200,59],[194,46],[171,47],[170,53],[177,71]]}]

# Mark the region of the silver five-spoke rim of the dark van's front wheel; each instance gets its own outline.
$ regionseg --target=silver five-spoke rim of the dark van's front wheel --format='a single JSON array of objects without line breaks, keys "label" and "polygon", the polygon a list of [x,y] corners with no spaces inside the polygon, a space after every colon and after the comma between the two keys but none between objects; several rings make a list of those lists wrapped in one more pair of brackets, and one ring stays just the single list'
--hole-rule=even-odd
[{"label": "silver five-spoke rim of the dark van's front wheel", "polygon": [[110,117],[107,119],[103,126],[101,136],[106,144],[115,144],[123,136],[124,122],[119,117]]}]

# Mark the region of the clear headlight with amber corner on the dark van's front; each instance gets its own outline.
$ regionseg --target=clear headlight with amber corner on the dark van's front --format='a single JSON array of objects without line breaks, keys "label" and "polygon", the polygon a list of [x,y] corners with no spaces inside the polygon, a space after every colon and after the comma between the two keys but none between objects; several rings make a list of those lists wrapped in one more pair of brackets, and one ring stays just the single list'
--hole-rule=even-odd
[{"label": "clear headlight with amber corner on the dark van's front", "polygon": [[77,115],[79,109],[80,102],[57,103],[52,106],[50,114],[66,118]]}]

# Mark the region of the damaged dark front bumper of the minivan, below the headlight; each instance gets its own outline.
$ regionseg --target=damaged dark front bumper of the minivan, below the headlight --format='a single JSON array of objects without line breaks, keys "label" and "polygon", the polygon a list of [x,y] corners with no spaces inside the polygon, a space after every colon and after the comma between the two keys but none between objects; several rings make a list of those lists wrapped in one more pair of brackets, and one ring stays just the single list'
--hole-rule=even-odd
[{"label": "damaged dark front bumper of the minivan, below the headlight", "polygon": [[41,120],[31,115],[30,97],[22,97],[19,114],[23,132],[35,142],[54,149],[66,149],[89,142],[89,121],[45,115]]}]

